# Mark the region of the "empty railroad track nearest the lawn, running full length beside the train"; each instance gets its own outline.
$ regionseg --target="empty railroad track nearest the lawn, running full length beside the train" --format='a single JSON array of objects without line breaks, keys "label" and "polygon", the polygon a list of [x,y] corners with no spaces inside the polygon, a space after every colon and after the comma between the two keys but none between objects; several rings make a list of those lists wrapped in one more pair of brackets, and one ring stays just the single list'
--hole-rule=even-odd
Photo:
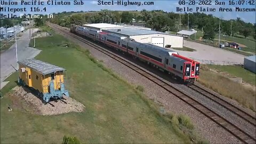
[{"label": "empty railroad track nearest the lawn, running full length beside the train", "polygon": [[113,52],[110,52],[110,51],[104,49],[101,46],[98,46],[97,44],[94,44],[94,43],[92,43],[90,41],[87,41],[86,39],[84,39],[80,36],[77,36],[73,33],[70,33],[69,29],[67,29],[67,28],[60,27],[60,26],[55,25],[53,23],[47,23],[47,24],[49,26],[55,28],[55,29],[59,29],[63,33],[66,33],[66,34],[68,34],[68,35],[70,35],[74,38],[77,38],[79,41],[84,42],[85,44],[93,47],[94,49],[97,49],[98,51],[108,55],[109,57],[117,60],[118,62],[123,63],[123,65],[133,69],[134,71],[136,71],[140,75],[146,77],[150,81],[152,81],[155,84],[161,86],[166,91],[175,95],[175,97],[178,97],[182,101],[186,102],[189,106],[195,108],[200,113],[202,113],[206,117],[210,118],[213,122],[215,122],[218,125],[220,125],[221,127],[223,127],[223,129],[225,129],[229,133],[233,134],[237,139],[241,140],[242,142],[244,142],[244,143],[256,143],[256,139],[252,135],[250,135],[250,134],[246,133],[245,131],[241,130],[238,126],[236,126],[233,123],[227,121],[227,119],[225,119],[222,116],[220,116],[219,114],[215,113],[213,110],[207,108],[206,106],[204,106],[202,103],[198,102],[197,100],[189,97],[189,95],[187,95],[186,93],[183,93],[182,91],[173,87],[172,85],[170,85],[165,80],[163,80],[161,78],[158,78],[157,76],[154,76],[153,74],[151,74],[147,70],[142,69],[141,67],[135,65],[134,63],[130,62],[129,60],[126,60],[126,59],[122,58],[121,56],[119,56],[119,55],[117,55]]}]

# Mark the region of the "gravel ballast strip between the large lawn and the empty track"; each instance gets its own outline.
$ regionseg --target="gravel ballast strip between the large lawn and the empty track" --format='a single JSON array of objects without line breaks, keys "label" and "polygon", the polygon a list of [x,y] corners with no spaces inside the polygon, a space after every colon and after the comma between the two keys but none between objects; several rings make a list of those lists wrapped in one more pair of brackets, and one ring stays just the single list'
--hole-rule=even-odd
[{"label": "gravel ballast strip between the large lawn and the empty track", "polygon": [[98,50],[85,45],[83,42],[78,41],[76,38],[70,37],[67,34],[62,35],[70,38],[81,47],[90,50],[93,57],[99,60],[103,60],[105,66],[113,69],[115,73],[126,79],[129,83],[142,85],[145,88],[145,94],[147,97],[153,99],[155,102],[162,103],[165,110],[172,111],[177,114],[188,115],[195,124],[198,133],[203,135],[203,137],[209,140],[211,143],[241,143],[241,141],[239,141],[226,130],[222,129],[222,127],[220,127],[218,124],[215,124],[209,118],[205,117],[203,114],[199,113],[197,110],[190,107],[182,100],[165,91],[162,89],[162,87],[159,87],[147,78],[138,75],[138,73],[135,71],[122,65],[116,60],[113,60]]}]

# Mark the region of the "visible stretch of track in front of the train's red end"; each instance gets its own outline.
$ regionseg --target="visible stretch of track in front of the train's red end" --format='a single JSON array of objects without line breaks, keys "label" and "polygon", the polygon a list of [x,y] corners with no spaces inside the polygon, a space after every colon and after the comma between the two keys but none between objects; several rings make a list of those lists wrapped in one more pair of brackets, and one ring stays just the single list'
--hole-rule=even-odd
[{"label": "visible stretch of track in front of the train's red end", "polygon": [[256,126],[256,118],[255,116],[250,115],[249,113],[247,113],[246,111],[242,110],[241,108],[238,108],[236,106],[234,106],[232,103],[218,97],[217,95],[203,89],[202,87],[193,84],[193,85],[187,85],[190,89],[193,89],[194,91],[202,94],[204,97],[209,98],[210,100],[218,103],[219,105],[221,105],[222,107],[225,107],[226,109],[232,111],[234,114],[236,114],[237,116],[241,117],[242,119],[244,119],[246,122],[249,122],[250,124]]}]

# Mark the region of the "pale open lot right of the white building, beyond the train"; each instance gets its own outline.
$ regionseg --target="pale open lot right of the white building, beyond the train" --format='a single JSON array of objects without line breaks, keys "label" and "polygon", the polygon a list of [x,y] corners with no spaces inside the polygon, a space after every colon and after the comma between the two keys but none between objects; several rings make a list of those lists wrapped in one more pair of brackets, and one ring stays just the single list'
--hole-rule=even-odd
[{"label": "pale open lot right of the white building, beyond the train", "polygon": [[[241,55],[238,53],[226,51],[219,49],[217,47],[204,45],[196,42],[191,41],[184,41],[184,46],[190,47],[191,49],[195,49],[195,52],[187,52],[187,51],[177,51],[180,55],[183,55],[185,57],[195,59],[195,60],[213,60],[213,61],[219,61],[218,64],[223,65],[223,62],[221,61],[230,61],[230,62],[236,62],[236,63],[244,63],[244,57],[245,55]],[[225,65],[228,65],[228,63],[225,62]]]}]

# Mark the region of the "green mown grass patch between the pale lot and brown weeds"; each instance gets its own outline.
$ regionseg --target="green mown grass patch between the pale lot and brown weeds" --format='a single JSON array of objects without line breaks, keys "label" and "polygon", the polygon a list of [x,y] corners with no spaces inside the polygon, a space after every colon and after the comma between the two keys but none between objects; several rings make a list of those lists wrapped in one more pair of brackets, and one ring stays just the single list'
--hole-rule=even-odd
[{"label": "green mown grass patch between the pale lot and brown weeds", "polygon": [[256,84],[256,75],[241,66],[220,66],[220,65],[207,65],[209,68],[214,68],[219,71],[224,71],[235,77],[242,77],[243,81],[252,85]]}]

